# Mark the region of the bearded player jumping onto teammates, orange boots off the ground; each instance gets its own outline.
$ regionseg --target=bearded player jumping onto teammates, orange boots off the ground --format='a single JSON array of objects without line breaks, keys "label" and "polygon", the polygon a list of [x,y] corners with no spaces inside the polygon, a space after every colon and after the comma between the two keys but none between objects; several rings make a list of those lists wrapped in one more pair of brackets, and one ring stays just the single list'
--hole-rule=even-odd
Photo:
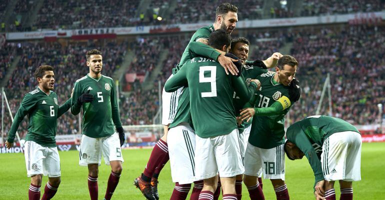
[{"label": "bearded player jumping onto teammates, orange boots off the ground", "polygon": [[[215,22],[205,27],[199,28],[191,37],[190,42],[200,41],[205,44],[208,43],[210,33],[216,29],[224,29],[227,33],[231,33],[238,21],[236,12],[238,8],[229,3],[220,4],[216,8]],[[180,62],[172,69],[172,74],[176,73],[183,63],[190,59],[189,50],[186,47],[181,56]],[[232,74],[237,74],[237,69],[232,63],[232,60],[224,55],[217,57],[218,62],[224,67],[226,73],[228,71]],[[170,77],[172,77],[172,74]],[[136,185],[144,196],[151,196],[158,199],[157,194],[157,177],[164,164],[168,161],[168,146],[167,146],[167,132],[168,125],[173,121],[178,107],[178,99],[182,93],[183,88],[179,88],[174,92],[162,92],[162,124],[164,125],[164,135],[155,144],[151,151],[147,165],[143,173],[134,180]]]}]

